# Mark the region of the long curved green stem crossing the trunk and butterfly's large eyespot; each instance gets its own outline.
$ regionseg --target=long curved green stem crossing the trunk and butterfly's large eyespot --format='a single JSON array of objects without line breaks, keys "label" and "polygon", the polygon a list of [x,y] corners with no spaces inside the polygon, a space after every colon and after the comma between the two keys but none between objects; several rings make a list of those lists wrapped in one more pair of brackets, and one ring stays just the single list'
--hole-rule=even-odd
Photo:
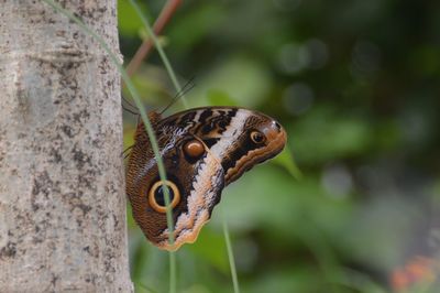
[{"label": "long curved green stem crossing the trunk and butterfly's large eyespot", "polygon": [[[141,102],[139,93],[136,90],[136,88],[134,87],[133,83],[131,82],[129,75],[127,74],[125,69],[123,68],[122,64],[120,63],[120,61],[118,59],[118,57],[113,54],[113,52],[110,50],[110,47],[107,45],[106,41],[98,35],[96,32],[94,32],[91,29],[89,29],[85,23],[82,23],[81,20],[79,20],[77,17],[75,17],[70,11],[64,9],[63,7],[61,7],[58,3],[56,3],[53,0],[43,0],[43,2],[45,2],[46,4],[51,6],[53,9],[55,9],[56,11],[63,13],[64,15],[66,15],[68,19],[70,19],[72,21],[74,21],[79,28],[81,28],[81,30],[84,30],[85,32],[87,32],[89,35],[91,35],[101,46],[102,48],[106,51],[106,53],[109,55],[111,62],[118,67],[119,73],[121,74],[122,79],[124,80],[127,88],[129,89],[130,94],[133,97],[134,104],[136,105],[141,118],[144,122],[145,126],[145,130],[146,133],[148,134],[151,144],[152,144],[152,149],[154,152],[154,155],[156,158],[156,162],[157,162],[157,169],[158,169],[158,174],[162,181],[166,181],[166,172],[165,172],[165,167],[164,167],[164,163],[162,161],[162,156],[161,156],[161,152],[158,149],[158,144],[157,144],[157,140],[153,130],[153,127],[150,122],[150,119],[143,108],[143,105]],[[165,204],[167,206],[166,209],[166,219],[167,219],[167,225],[168,225],[168,231],[169,231],[169,243],[173,245],[174,243],[174,234],[173,234],[173,217],[172,217],[172,209],[170,209],[170,200],[169,200],[169,191],[168,188],[164,188],[164,194],[165,194]],[[172,257],[173,253],[170,253],[170,262],[175,262],[175,258]],[[175,263],[172,265],[170,270],[175,270]],[[170,273],[170,276],[173,278],[170,280],[170,292],[174,293],[175,290],[175,272]]]}]

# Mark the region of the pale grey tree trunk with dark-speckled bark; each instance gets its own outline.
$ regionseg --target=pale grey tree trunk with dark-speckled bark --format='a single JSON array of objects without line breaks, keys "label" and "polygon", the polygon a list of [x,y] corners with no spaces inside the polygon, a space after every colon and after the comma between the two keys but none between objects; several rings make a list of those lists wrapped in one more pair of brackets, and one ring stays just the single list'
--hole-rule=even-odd
[{"label": "pale grey tree trunk with dark-speckled bark", "polygon": [[[61,1],[119,54],[116,0]],[[0,0],[0,292],[131,292],[120,77],[43,1]]]}]

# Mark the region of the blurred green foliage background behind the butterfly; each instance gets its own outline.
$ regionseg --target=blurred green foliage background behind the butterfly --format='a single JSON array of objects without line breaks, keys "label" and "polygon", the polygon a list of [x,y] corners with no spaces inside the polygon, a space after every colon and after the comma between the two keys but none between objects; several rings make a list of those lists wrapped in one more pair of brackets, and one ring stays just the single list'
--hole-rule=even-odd
[{"label": "blurred green foliage background behind the butterfly", "polygon": [[[128,1],[119,28],[128,63],[146,35]],[[178,292],[233,291],[224,219],[242,292],[440,292],[439,1],[184,1],[161,42],[191,107],[264,111],[289,148],[223,191]],[[147,109],[176,94],[156,52],[133,78]],[[129,228],[136,292],[166,292],[167,253]]]}]

